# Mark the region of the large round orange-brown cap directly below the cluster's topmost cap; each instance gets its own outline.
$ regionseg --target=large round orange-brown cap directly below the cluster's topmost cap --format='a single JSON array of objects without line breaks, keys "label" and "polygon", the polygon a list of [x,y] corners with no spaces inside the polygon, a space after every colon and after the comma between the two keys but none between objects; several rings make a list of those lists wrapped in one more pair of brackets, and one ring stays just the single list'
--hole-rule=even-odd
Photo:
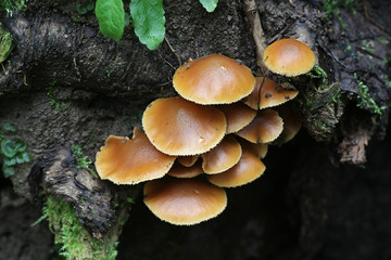
[{"label": "large round orange-brown cap directly below the cluster's topmost cap", "polygon": [[224,138],[224,113],[180,96],[159,99],[143,113],[142,127],[151,143],[168,155],[197,155],[216,146]]}]

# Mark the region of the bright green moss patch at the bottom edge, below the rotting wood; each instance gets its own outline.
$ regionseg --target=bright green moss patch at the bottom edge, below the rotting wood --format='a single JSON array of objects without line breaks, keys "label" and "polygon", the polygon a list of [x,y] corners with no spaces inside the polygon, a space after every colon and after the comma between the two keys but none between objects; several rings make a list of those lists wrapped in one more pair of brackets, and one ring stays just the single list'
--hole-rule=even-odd
[{"label": "bright green moss patch at the bottom edge, below the rotting wood", "polygon": [[[92,237],[75,214],[72,205],[62,198],[49,195],[43,206],[43,216],[36,222],[48,219],[54,233],[54,243],[60,245],[59,255],[66,260],[114,260],[117,242],[103,242]],[[35,224],[36,224],[35,223]]]}]

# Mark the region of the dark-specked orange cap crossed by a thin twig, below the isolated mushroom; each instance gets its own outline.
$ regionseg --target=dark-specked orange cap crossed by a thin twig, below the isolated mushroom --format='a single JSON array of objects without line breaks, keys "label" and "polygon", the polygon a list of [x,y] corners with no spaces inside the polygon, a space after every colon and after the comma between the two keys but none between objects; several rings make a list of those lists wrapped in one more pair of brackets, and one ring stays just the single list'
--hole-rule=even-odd
[{"label": "dark-specked orange cap crossed by a thin twig, below the isolated mushroom", "polygon": [[[287,101],[294,99],[299,91],[293,89],[285,89],[272,79],[264,77],[255,77],[256,84],[249,96],[245,98],[244,104],[249,105],[253,109],[260,109],[277,106],[283,104]],[[261,88],[262,84],[262,88]],[[261,93],[260,93],[261,88]]]}]

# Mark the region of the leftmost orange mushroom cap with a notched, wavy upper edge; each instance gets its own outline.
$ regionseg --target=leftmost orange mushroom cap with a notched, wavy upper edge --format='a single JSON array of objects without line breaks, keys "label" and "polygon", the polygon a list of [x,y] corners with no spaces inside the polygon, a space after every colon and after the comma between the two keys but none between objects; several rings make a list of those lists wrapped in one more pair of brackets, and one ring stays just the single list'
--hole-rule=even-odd
[{"label": "leftmost orange mushroom cap with a notched, wavy upper edge", "polygon": [[146,133],[135,128],[134,139],[110,135],[96,157],[102,180],[116,184],[137,184],[162,178],[173,166],[175,156],[157,151]]}]

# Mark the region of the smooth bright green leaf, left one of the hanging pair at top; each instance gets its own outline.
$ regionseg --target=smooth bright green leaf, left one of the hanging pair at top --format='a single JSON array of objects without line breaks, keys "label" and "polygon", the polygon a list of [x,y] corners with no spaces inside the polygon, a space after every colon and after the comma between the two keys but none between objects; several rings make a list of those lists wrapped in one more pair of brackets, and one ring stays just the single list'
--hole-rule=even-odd
[{"label": "smooth bright green leaf, left one of the hanging pair at top", "polygon": [[119,41],[125,27],[125,11],[122,0],[98,0],[96,15],[100,31],[115,41]]}]

